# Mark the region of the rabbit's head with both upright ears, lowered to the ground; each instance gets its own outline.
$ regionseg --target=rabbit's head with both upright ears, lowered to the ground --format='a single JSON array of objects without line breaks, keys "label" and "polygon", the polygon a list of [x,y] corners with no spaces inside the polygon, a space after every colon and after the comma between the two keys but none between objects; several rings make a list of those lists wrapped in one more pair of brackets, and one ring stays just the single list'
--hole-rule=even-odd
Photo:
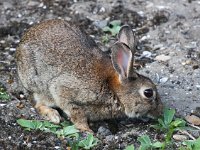
[{"label": "rabbit's head with both upright ears, lowered to the ground", "polygon": [[112,63],[120,81],[115,88],[125,114],[131,118],[159,116],[162,103],[155,84],[134,70],[135,38],[129,26],[121,28],[111,51]]}]

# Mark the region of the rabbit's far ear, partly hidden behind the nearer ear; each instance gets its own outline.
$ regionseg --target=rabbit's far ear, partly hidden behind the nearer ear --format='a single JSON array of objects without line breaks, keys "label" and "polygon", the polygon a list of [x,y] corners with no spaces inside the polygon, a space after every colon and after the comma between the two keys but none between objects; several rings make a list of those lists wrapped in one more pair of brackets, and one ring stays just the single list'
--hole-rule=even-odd
[{"label": "rabbit's far ear, partly hidden behind the nearer ear", "polygon": [[118,33],[118,41],[126,44],[131,49],[132,53],[134,53],[135,37],[130,26],[124,25],[121,27]]}]

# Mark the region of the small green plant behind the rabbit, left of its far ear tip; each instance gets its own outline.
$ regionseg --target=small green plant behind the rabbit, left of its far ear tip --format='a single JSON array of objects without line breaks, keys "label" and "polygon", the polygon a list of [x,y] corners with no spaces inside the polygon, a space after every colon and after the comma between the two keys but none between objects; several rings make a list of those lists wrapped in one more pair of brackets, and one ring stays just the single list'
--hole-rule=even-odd
[{"label": "small green plant behind the rabbit, left of its far ear tip", "polygon": [[113,20],[107,26],[103,27],[102,30],[105,35],[102,36],[102,42],[108,43],[111,37],[115,37],[121,28],[120,20]]}]

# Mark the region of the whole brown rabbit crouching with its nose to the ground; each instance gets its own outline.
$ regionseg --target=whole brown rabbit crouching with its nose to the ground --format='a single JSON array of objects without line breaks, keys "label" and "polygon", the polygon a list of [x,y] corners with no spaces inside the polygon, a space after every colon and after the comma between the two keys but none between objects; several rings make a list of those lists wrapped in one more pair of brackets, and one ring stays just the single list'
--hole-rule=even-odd
[{"label": "whole brown rabbit crouching with its nose to the ground", "polygon": [[79,28],[49,20],[30,28],[16,51],[18,75],[37,111],[54,123],[61,108],[82,131],[88,121],[157,116],[162,103],[153,82],[134,68],[134,35],[123,26],[111,59]]}]

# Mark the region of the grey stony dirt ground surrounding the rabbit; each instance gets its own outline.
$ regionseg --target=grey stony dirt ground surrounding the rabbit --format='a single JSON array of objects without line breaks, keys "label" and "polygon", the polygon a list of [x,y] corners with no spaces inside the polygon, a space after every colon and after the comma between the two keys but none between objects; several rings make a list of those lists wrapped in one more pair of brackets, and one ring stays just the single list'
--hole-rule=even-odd
[{"label": "grey stony dirt ground surrounding the rabbit", "polygon": [[[62,18],[81,26],[101,46],[102,27],[112,20],[129,24],[138,34],[138,70],[158,86],[163,103],[184,117],[200,116],[200,1],[198,0],[1,0],[0,83],[11,94],[0,101],[0,149],[65,149],[67,141],[50,133],[24,131],[18,118],[40,119],[26,99],[19,99],[15,50],[24,31],[46,19]],[[14,82],[11,82],[14,80]],[[96,149],[124,149],[139,135],[155,136],[149,123],[123,120],[111,133],[101,122]],[[111,130],[112,131],[112,130]],[[199,136],[199,133],[196,133]]]}]

